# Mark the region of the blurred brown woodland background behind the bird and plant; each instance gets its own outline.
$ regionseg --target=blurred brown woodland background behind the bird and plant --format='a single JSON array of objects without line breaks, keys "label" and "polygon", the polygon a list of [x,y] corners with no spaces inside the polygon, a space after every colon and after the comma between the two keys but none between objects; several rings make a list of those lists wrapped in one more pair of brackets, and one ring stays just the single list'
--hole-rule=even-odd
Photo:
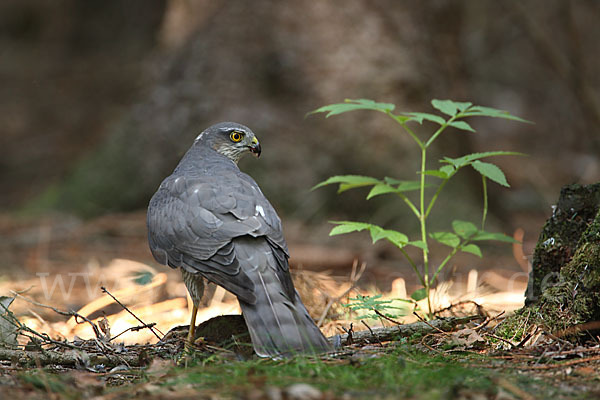
[{"label": "blurred brown woodland background behind the bird and plant", "polygon": [[[147,249],[145,207],[193,139],[231,120],[261,140],[261,158],[240,167],[279,211],[293,266],[334,279],[365,262],[365,285],[410,293],[416,281],[394,248],[366,235],[328,237],[327,221],[341,219],[413,234],[403,205],[310,188],[337,174],[414,179],[414,143],[380,113],[305,115],[345,98],[433,112],[438,98],[534,122],[472,120],[478,133],[448,131],[429,158],[434,167],[442,155],[528,154],[495,159],[511,188],[489,185],[490,230],[524,234],[523,246],[487,246],[484,259],[459,257],[445,275],[470,289],[496,285],[518,305],[560,187],[600,180],[599,18],[595,0],[5,0],[0,289],[78,309],[101,296],[99,282],[134,276],[141,285],[150,271],[161,289],[144,301],[129,293],[130,304],[181,300],[178,274]],[[459,174],[433,228],[478,221],[480,183]],[[157,278],[164,273],[170,279]],[[90,315],[118,311],[102,307]]]}]

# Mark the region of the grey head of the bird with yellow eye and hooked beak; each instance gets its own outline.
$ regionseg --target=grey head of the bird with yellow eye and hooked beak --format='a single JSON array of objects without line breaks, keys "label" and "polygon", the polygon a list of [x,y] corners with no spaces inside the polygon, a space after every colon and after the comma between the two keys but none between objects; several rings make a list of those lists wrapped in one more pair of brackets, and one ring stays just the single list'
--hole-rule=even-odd
[{"label": "grey head of the bird with yellow eye and hooked beak", "polygon": [[205,129],[195,143],[210,146],[235,163],[246,153],[260,156],[260,143],[254,132],[235,122],[221,122]]}]

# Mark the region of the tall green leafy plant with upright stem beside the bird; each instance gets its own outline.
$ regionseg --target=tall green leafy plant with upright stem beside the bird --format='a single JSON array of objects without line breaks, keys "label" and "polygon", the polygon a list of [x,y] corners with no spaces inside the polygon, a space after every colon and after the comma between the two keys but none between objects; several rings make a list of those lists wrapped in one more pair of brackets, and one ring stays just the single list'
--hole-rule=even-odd
[{"label": "tall green leafy plant with upright stem beside the bird", "polygon": [[[506,177],[502,170],[495,164],[481,161],[484,158],[492,156],[506,156],[506,155],[522,155],[521,153],[511,151],[491,151],[485,153],[473,153],[467,154],[459,158],[443,157],[440,160],[441,166],[437,169],[427,168],[427,150],[431,147],[433,142],[440,137],[440,135],[446,131],[447,128],[452,127],[457,130],[475,132],[475,130],[464,121],[470,117],[482,116],[482,117],[493,117],[493,118],[504,118],[513,121],[528,122],[524,119],[511,115],[510,113],[502,110],[498,110],[490,107],[475,106],[468,102],[455,102],[451,100],[432,100],[431,104],[433,108],[438,110],[442,115],[422,113],[422,112],[405,112],[400,114],[394,114],[394,104],[389,103],[377,103],[373,100],[359,99],[359,100],[345,100],[344,103],[330,104],[321,107],[310,114],[314,113],[327,113],[326,117],[332,115],[338,115],[349,111],[355,110],[374,110],[382,112],[394,121],[396,121],[402,129],[414,140],[417,144],[418,149],[421,152],[421,163],[417,171],[418,179],[414,181],[398,180],[394,178],[385,177],[383,179],[377,179],[370,176],[360,175],[341,175],[333,176],[324,182],[319,183],[313,189],[338,184],[338,193],[344,192],[349,189],[355,189],[360,187],[371,187],[371,190],[367,194],[367,200],[375,196],[383,194],[395,194],[399,196],[402,201],[410,208],[415,217],[419,220],[420,224],[420,237],[417,240],[409,240],[408,236],[392,229],[384,229],[380,226],[365,223],[365,222],[354,222],[354,221],[331,221],[336,226],[331,230],[330,235],[340,235],[344,233],[357,232],[357,231],[369,231],[373,243],[378,240],[385,239],[400,249],[404,257],[408,260],[408,263],[417,274],[419,281],[422,284],[422,288],[417,292],[413,293],[411,297],[414,300],[421,300],[427,298],[428,305],[428,316],[431,317],[433,310],[431,308],[431,297],[430,290],[431,285],[435,282],[438,274],[442,271],[444,266],[448,264],[448,261],[459,251],[475,254],[482,257],[481,249],[475,242],[486,241],[486,240],[498,240],[503,242],[515,242],[515,240],[502,233],[487,232],[485,228],[485,220],[487,217],[488,209],[488,198],[487,198],[487,180],[496,182],[502,186],[509,187]],[[432,122],[439,127],[425,140],[419,138],[419,136],[411,129],[409,123],[422,124],[423,121]],[[440,193],[448,183],[448,181],[456,175],[456,173],[464,168],[470,166],[481,175],[481,181],[483,186],[483,212],[481,218],[481,228],[478,228],[475,224],[468,221],[455,220],[452,222],[452,230],[432,232],[429,233],[428,229],[428,217],[431,214]],[[436,179],[435,183],[430,181]],[[433,187],[435,191],[430,196],[427,196],[426,188]],[[416,201],[411,200],[407,193],[411,191],[418,192],[418,198]],[[446,246],[450,247],[450,251],[443,261],[435,268],[430,269],[430,255],[429,246],[427,244],[428,239],[436,240]],[[419,270],[417,263],[413,260],[406,250],[406,246],[418,247],[423,255],[423,270]],[[433,274],[431,274],[433,272]]]}]

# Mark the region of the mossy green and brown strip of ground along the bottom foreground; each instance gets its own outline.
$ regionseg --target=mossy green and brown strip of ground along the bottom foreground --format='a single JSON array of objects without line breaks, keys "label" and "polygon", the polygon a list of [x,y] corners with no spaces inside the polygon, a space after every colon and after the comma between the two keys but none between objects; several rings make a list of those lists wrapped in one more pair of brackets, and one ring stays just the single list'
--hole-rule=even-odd
[{"label": "mossy green and brown strip of ground along the bottom foreground", "polygon": [[[471,331],[468,336],[466,329]],[[470,342],[473,332],[481,332],[476,335],[483,339]],[[69,367],[57,363],[42,366],[40,361],[38,366],[23,366],[13,360],[1,364],[0,384],[15,399],[529,400],[600,396],[598,345],[544,342],[498,350],[485,338],[481,330],[461,328],[453,333],[414,334],[395,341],[344,346],[318,358],[287,360],[244,360],[211,346],[187,358],[149,356],[148,347],[131,346],[119,349],[120,357],[145,359],[145,365],[109,368],[86,365],[83,357],[79,365]],[[83,349],[92,344],[78,346]]]}]

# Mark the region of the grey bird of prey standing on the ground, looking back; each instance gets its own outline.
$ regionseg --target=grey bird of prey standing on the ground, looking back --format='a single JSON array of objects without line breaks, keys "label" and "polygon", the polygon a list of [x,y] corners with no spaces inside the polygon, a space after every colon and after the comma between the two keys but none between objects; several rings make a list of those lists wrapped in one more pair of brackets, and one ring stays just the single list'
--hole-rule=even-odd
[{"label": "grey bird of prey standing on the ground, looking back", "polygon": [[202,132],[150,200],[150,250],[181,270],[194,304],[188,343],[206,278],[237,296],[259,356],[326,352],[330,344],[292,283],[281,221],[237,166],[260,152],[246,126],[223,122]]}]

